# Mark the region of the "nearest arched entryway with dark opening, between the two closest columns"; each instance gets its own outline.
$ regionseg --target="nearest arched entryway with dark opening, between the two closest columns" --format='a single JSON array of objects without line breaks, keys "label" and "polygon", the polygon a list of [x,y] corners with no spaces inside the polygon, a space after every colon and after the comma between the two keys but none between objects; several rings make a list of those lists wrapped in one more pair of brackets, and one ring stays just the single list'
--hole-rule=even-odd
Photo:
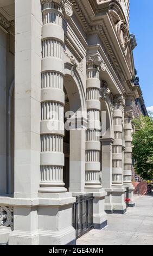
[{"label": "nearest arched entryway with dark opening, between the two closest columns", "polygon": [[66,129],[68,127],[69,131],[65,130],[63,140],[65,153],[63,179],[68,191],[82,192],[85,186],[86,99],[78,72],[70,63],[65,64],[64,87],[65,127]]}]

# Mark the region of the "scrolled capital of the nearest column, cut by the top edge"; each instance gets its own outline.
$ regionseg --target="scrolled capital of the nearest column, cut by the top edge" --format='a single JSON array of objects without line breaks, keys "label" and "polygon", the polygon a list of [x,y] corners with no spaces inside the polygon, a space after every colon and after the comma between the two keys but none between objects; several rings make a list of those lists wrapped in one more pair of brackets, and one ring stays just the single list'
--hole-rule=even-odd
[{"label": "scrolled capital of the nearest column, cut by the top edge", "polygon": [[68,19],[73,15],[73,4],[68,0],[41,0],[42,4],[58,4],[61,5],[63,15]]}]

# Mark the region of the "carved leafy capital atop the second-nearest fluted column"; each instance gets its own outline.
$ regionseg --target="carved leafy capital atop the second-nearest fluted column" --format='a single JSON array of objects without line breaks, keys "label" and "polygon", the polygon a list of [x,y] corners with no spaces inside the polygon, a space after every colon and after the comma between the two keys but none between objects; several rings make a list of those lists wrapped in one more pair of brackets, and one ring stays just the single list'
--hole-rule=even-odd
[{"label": "carved leafy capital atop the second-nearest fluted column", "polygon": [[102,71],[106,70],[105,62],[103,61],[99,53],[88,56],[86,58],[86,63],[88,68],[91,68],[93,66],[93,68],[97,68]]}]

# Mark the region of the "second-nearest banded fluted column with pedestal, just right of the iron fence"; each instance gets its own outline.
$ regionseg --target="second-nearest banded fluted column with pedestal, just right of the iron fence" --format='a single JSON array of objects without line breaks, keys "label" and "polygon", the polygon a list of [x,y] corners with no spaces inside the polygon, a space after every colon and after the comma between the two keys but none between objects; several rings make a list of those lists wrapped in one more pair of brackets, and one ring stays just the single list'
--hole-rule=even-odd
[{"label": "second-nearest banded fluted column with pedestal, just right of the iron fence", "polygon": [[87,114],[86,131],[86,181],[85,191],[92,192],[93,223],[95,229],[107,224],[104,211],[106,192],[100,180],[100,79],[101,58],[99,54],[87,58]]}]

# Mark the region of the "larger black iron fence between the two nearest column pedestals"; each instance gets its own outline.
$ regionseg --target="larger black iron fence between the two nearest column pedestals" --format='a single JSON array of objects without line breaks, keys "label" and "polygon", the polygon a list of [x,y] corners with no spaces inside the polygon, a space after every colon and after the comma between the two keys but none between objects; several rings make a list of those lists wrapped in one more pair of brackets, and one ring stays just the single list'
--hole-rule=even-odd
[{"label": "larger black iron fence between the two nearest column pedestals", "polygon": [[76,239],[93,228],[93,194],[76,196],[72,205],[72,225],[76,230]]}]

